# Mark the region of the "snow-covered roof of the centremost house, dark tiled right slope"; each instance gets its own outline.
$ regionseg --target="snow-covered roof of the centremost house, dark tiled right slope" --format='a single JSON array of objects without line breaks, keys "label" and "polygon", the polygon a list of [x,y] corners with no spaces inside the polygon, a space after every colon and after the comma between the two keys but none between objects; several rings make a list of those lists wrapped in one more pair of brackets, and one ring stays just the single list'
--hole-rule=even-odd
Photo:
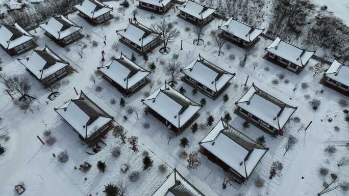
[{"label": "snow-covered roof of the centremost house, dark tiled right slope", "polygon": [[181,128],[202,108],[202,105],[185,97],[166,82],[142,102],[177,128]]}]

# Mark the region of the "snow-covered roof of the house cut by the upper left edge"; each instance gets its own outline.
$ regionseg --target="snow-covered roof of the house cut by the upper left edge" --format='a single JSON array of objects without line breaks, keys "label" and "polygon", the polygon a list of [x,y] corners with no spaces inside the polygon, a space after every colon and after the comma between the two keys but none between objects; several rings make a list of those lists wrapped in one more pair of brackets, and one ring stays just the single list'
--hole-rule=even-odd
[{"label": "snow-covered roof of the house cut by the upper left edge", "polygon": [[12,49],[32,39],[34,36],[23,30],[17,22],[0,27],[0,44],[6,49]]}]

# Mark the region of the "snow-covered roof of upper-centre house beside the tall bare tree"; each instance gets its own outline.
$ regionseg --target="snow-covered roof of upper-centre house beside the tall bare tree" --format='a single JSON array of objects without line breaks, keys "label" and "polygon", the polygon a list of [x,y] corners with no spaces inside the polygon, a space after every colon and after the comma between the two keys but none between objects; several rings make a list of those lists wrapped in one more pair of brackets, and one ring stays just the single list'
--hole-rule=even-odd
[{"label": "snow-covered roof of upper-centre house beside the tall bare tree", "polygon": [[126,29],[116,31],[116,33],[141,47],[158,39],[160,36],[159,33],[137,21],[130,22]]}]

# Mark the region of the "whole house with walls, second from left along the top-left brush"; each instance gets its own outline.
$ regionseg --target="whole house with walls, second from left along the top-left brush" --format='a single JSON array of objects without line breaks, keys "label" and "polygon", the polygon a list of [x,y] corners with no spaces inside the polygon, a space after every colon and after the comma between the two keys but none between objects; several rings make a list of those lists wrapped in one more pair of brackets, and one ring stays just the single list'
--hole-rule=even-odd
[{"label": "whole house with walls, second from left along the top-left brush", "polygon": [[39,24],[46,35],[59,45],[67,45],[82,37],[82,26],[70,21],[64,16],[51,17],[48,21]]}]

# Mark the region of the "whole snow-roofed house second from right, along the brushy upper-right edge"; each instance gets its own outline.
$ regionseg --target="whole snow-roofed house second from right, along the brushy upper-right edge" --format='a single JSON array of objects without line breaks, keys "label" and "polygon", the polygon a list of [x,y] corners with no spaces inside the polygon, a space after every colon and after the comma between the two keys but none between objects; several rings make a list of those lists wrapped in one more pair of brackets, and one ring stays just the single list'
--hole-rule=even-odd
[{"label": "whole snow-roofed house second from right, along the brushy upper-right edge", "polygon": [[315,52],[276,38],[268,47],[266,59],[282,68],[299,74]]}]

